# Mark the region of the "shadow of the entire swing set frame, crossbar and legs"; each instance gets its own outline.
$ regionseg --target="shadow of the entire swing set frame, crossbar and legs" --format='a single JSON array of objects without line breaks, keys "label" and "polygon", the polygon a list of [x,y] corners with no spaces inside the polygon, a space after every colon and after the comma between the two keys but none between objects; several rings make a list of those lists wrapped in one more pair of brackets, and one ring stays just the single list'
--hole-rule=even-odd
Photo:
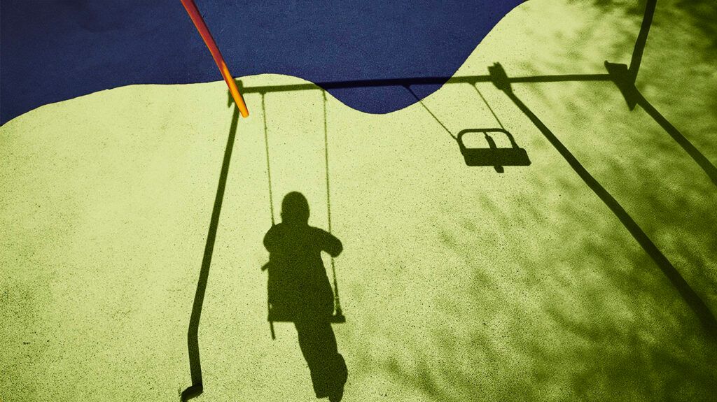
[{"label": "shadow of the entire swing set frame, crossbar and legs", "polygon": [[[630,65],[617,64],[611,62],[605,62],[605,68],[607,73],[599,74],[557,74],[557,75],[538,75],[530,77],[508,77],[503,67],[496,63],[492,67],[488,67],[489,74],[486,75],[475,75],[475,76],[463,76],[463,77],[412,77],[412,78],[397,78],[397,79],[370,79],[370,80],[356,80],[356,81],[338,81],[338,82],[317,82],[315,84],[288,84],[288,85],[275,85],[265,87],[243,87],[241,80],[235,80],[242,94],[259,93],[262,94],[262,99],[265,94],[271,92],[293,92],[293,91],[305,91],[305,90],[317,90],[317,87],[323,91],[323,95],[326,96],[326,91],[329,89],[346,89],[346,88],[359,88],[359,87],[387,87],[397,86],[405,87],[409,89],[413,85],[421,84],[471,84],[475,87],[479,83],[493,83],[495,87],[500,89],[511,102],[521,110],[523,114],[531,120],[536,128],[543,134],[544,137],[551,143],[551,145],[560,153],[560,155],[568,162],[570,167],[576,172],[577,175],[584,181],[584,183],[590,187],[595,195],[604,202],[607,207],[614,213],[618,220],[623,226],[630,232],[637,243],[645,250],[645,253],[650,256],[657,268],[663,272],[666,278],[670,280],[675,290],[678,291],[680,296],[685,300],[688,307],[693,310],[693,313],[700,320],[706,333],[710,336],[717,335],[717,320],[714,314],[709,310],[708,306],[701,297],[695,293],[689,283],[683,278],[672,263],[665,257],[665,255],[659,250],[659,248],[650,240],[650,237],[637,225],[637,222],[630,217],[627,211],[617,200],[610,195],[610,193],[600,185],[600,183],[581,165],[579,160],[572,155],[567,147],[546,127],[543,122],[534,114],[526,104],[519,99],[516,94],[513,93],[513,84],[530,84],[530,83],[550,83],[550,82],[612,82],[617,86],[617,89],[625,97],[627,107],[630,110],[635,109],[637,105],[647,112],[657,124],[682,147],[685,152],[701,167],[701,169],[708,175],[713,185],[717,186],[717,168],[698,150],[694,145],[683,136],[683,134],[671,124],[660,112],[655,109],[650,102],[640,93],[636,87],[637,72],[640,69],[640,63],[642,62],[642,54],[645,50],[645,44],[647,42],[647,34],[652,24],[652,18],[655,13],[655,7],[657,0],[648,0],[645,6],[645,14],[642,19],[642,25],[640,27],[640,33],[635,41],[635,49],[632,52],[632,58]],[[476,88],[477,89],[477,88]],[[480,92],[478,92],[480,94]],[[412,92],[413,94],[413,92]],[[414,94],[414,96],[416,96]],[[482,97],[482,95],[481,95]],[[421,102],[421,99],[418,99]],[[231,97],[229,97],[229,107],[233,104]],[[423,104],[425,107],[425,105]],[[490,106],[489,106],[490,107]],[[217,194],[214,198],[214,207],[212,209],[212,217],[209,221],[209,232],[206,237],[206,245],[204,247],[204,256],[201,261],[201,269],[199,271],[199,280],[197,281],[196,293],[194,296],[194,303],[192,305],[191,317],[189,319],[189,330],[187,333],[187,345],[189,350],[189,370],[191,374],[191,386],[181,391],[181,401],[188,401],[191,398],[201,395],[204,391],[202,376],[201,376],[201,359],[199,356],[199,321],[201,318],[202,305],[204,304],[204,294],[206,292],[206,284],[209,278],[209,268],[212,263],[212,254],[214,251],[214,242],[217,237],[217,228],[219,226],[219,216],[222,210],[222,201],[224,198],[224,189],[227,185],[227,175],[229,172],[229,163],[232,158],[232,149],[234,147],[234,138],[236,137],[238,120],[239,120],[239,109],[234,104],[234,112],[232,113],[232,121],[229,126],[229,135],[227,137],[227,145],[224,149],[224,159],[222,161],[222,168],[219,173],[219,183],[217,185]],[[427,109],[427,108],[426,108]],[[427,111],[430,112],[429,109]],[[491,112],[492,109],[491,109]],[[262,111],[265,113],[265,110]],[[432,116],[436,121],[454,138],[450,130],[443,125],[439,119]],[[502,124],[501,124],[502,125]]]}]

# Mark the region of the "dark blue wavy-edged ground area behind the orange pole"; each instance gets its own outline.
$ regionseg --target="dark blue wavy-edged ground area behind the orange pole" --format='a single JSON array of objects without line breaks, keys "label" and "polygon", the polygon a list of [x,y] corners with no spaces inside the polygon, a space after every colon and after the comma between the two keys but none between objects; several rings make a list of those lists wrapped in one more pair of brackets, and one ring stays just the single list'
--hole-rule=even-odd
[{"label": "dark blue wavy-edged ground area behind the orange pole", "polygon": [[[234,77],[317,83],[450,77],[522,2],[196,0]],[[0,124],[103,89],[220,79],[179,0],[2,0]],[[416,102],[402,87],[330,92],[369,113]]]}]

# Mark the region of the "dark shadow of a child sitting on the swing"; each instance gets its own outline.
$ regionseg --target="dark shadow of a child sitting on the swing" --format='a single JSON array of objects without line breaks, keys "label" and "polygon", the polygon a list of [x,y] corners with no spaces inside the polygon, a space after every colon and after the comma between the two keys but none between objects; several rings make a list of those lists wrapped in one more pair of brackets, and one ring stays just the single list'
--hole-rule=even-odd
[{"label": "dark shadow of a child sitting on the swing", "polygon": [[338,353],[330,318],[333,291],[321,252],[341,254],[338,238],[308,225],[309,205],[300,192],[282,201],[282,222],[272,225],[264,237],[269,262],[269,304],[272,314],[293,321],[299,346],[311,373],[317,398],[341,401],[348,371]]}]

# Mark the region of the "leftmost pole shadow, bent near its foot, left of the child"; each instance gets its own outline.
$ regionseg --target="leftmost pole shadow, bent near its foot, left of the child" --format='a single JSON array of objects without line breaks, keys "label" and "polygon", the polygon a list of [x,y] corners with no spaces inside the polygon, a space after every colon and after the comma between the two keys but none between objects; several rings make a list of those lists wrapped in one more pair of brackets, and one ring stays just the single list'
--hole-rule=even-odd
[{"label": "leftmost pole shadow, bent near its foot, left of the child", "polygon": [[204,386],[201,382],[201,360],[199,359],[199,319],[201,318],[201,307],[204,304],[204,292],[206,290],[206,282],[209,279],[209,266],[212,265],[214,240],[217,237],[217,227],[219,227],[219,214],[222,211],[222,201],[224,200],[224,187],[226,187],[227,185],[229,162],[232,160],[232,149],[234,148],[234,137],[237,134],[238,122],[239,108],[234,105],[234,114],[232,114],[232,125],[229,128],[227,148],[224,149],[222,172],[219,174],[217,196],[214,198],[214,209],[212,210],[212,218],[209,221],[209,233],[206,235],[204,257],[201,259],[199,280],[197,280],[196,283],[196,293],[194,293],[194,305],[192,305],[191,308],[191,318],[189,318],[189,330],[187,331],[186,335],[187,348],[189,349],[189,372],[191,373],[191,386],[187,387],[184,391],[182,391],[181,401],[189,401],[189,399],[201,395],[201,393],[204,391]]}]

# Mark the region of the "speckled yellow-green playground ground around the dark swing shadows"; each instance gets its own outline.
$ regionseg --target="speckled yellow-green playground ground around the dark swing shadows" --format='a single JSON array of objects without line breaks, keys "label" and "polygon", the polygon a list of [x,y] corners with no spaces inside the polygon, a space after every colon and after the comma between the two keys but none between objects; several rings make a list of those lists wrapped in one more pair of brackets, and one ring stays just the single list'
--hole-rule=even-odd
[{"label": "speckled yellow-green playground ground around the dark swing shadows", "polygon": [[[679,4],[658,4],[637,87],[716,164],[717,11]],[[529,1],[455,77],[494,62],[513,77],[604,74],[630,61],[641,10]],[[494,127],[470,84],[381,115],[327,96],[344,401],[711,400],[717,338],[685,288],[511,99],[477,87],[530,166],[465,165],[425,107],[452,134]],[[717,187],[701,166],[612,82],[513,89],[716,312]],[[272,340],[266,321],[263,120],[275,212],[300,191],[326,228],[322,92],[244,99],[196,401],[313,401],[295,329],[277,323]],[[191,385],[187,327],[232,112],[224,82],[137,85],[0,127],[1,401],[176,401]]]}]

